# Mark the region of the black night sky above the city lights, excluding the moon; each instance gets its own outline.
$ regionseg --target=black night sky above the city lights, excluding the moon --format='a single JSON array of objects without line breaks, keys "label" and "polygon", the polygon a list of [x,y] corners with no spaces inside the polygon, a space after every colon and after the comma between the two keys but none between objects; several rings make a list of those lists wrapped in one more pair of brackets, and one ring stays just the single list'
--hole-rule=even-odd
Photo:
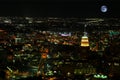
[{"label": "black night sky above the city lights, excluding the moon", "polygon": [[[119,0],[0,0],[0,16],[119,17]],[[100,7],[108,11],[102,13]]]}]

